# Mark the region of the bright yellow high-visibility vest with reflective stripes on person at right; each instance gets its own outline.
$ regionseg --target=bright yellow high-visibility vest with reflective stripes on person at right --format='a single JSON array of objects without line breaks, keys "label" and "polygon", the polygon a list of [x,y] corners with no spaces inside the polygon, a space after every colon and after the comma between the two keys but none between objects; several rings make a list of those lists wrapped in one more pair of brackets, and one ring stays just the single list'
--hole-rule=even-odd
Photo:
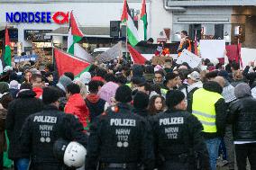
[{"label": "bright yellow high-visibility vest with reflective stripes on person at right", "polygon": [[204,88],[193,94],[192,113],[201,121],[206,133],[217,132],[215,103],[221,98],[221,94],[206,91]]}]

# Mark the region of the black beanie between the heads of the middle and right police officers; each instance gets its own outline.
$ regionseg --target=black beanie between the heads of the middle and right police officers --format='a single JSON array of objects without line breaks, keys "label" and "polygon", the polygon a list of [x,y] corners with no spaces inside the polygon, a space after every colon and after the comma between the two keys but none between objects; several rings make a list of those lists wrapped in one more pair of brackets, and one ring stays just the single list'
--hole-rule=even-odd
[{"label": "black beanie between the heads of the middle and right police officers", "polygon": [[146,109],[149,105],[149,98],[148,94],[143,92],[138,92],[135,94],[133,98],[133,106],[135,109]]}]

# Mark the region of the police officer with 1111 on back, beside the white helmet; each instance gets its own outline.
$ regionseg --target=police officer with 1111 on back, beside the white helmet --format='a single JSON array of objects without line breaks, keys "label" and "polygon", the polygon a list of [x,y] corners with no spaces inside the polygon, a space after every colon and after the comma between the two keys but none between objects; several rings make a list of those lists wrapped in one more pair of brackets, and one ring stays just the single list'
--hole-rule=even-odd
[{"label": "police officer with 1111 on back, beside the white helmet", "polygon": [[53,144],[57,139],[87,144],[87,135],[78,119],[59,111],[59,90],[45,87],[42,112],[29,116],[23,124],[21,145],[24,158],[31,157],[32,170],[62,170],[63,164],[53,155]]}]

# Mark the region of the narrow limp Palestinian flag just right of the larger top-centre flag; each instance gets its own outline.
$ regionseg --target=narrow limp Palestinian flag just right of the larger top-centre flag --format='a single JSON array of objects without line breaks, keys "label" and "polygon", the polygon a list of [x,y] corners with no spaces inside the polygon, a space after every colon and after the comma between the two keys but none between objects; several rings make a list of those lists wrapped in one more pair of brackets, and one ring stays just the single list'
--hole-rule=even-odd
[{"label": "narrow limp Palestinian flag just right of the larger top-centre flag", "polygon": [[142,25],[140,25],[139,29],[142,31],[142,39],[147,40],[148,20],[147,20],[147,10],[146,10],[146,0],[142,0],[141,21],[142,21]]}]

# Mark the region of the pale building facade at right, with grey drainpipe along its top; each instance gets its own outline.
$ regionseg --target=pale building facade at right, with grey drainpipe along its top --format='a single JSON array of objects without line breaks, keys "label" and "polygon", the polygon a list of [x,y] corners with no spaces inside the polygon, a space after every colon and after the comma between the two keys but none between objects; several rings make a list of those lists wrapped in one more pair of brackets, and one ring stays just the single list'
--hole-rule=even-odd
[{"label": "pale building facade at right, with grey drainpipe along its top", "polygon": [[178,32],[186,30],[194,39],[224,39],[227,43],[242,42],[243,47],[256,48],[255,0],[164,0],[171,11],[171,40],[178,41]]}]

